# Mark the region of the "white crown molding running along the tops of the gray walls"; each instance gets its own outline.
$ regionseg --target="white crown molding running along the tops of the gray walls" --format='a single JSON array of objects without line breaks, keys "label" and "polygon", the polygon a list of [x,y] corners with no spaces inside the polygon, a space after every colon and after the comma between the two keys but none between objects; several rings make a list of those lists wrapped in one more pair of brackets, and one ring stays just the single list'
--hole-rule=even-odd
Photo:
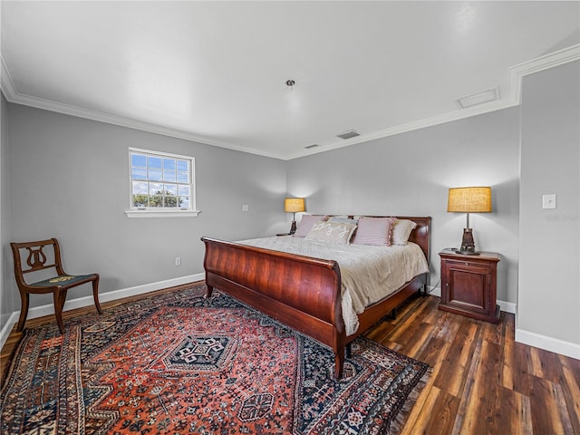
[{"label": "white crown molding running along the tops of the gray walls", "polygon": [[156,133],[163,136],[169,136],[172,138],[190,140],[201,144],[225,148],[228,150],[247,152],[250,154],[256,154],[259,156],[264,156],[272,159],[293,160],[301,157],[306,157],[312,154],[318,154],[320,152],[325,152],[328,150],[337,150],[340,148],[349,147],[351,145],[356,145],[358,143],[367,142],[370,140],[382,139],[388,136],[393,136],[395,134],[420,130],[426,127],[431,127],[434,125],[450,121],[459,121],[465,118],[470,118],[472,116],[488,113],[490,111],[499,111],[502,109],[517,106],[521,104],[521,88],[522,81],[525,76],[532,73],[538,73],[540,71],[544,71],[549,68],[554,68],[564,63],[574,62],[577,60],[580,60],[580,44],[573,45],[571,47],[559,50],[554,53],[548,53],[531,61],[518,63],[517,65],[510,67],[509,68],[510,90],[509,95],[507,95],[507,98],[505,99],[501,99],[495,102],[478,104],[477,106],[472,106],[467,109],[449,111],[447,113],[443,113],[430,118],[408,122],[406,124],[397,125],[381,131],[373,131],[372,133],[362,134],[361,136],[358,136],[353,139],[341,140],[340,142],[336,141],[331,144],[322,145],[315,149],[304,150],[302,152],[294,153],[291,155],[279,155],[276,153],[270,153],[263,150],[241,147],[229,142],[215,140],[204,136],[198,136],[196,134],[189,133],[187,131],[171,129],[169,127],[163,127],[161,125],[150,122],[134,120],[131,118],[126,118],[118,115],[103,113],[101,111],[92,111],[89,109],[83,109],[69,104],[52,102],[49,100],[43,100],[41,98],[36,98],[30,95],[22,94],[16,91],[12,77],[8,72],[4,59],[2,58],[1,55],[0,55],[0,64],[2,67],[2,71],[0,77],[1,78],[0,85],[2,86],[2,92],[5,94],[5,98],[8,102],[23,104],[26,106],[34,107],[37,109],[43,109],[46,111],[56,111],[66,115],[71,115],[78,118],[85,118],[92,121],[106,122],[109,124],[119,125],[121,127],[127,127],[130,129],[148,131],[150,133]]}]

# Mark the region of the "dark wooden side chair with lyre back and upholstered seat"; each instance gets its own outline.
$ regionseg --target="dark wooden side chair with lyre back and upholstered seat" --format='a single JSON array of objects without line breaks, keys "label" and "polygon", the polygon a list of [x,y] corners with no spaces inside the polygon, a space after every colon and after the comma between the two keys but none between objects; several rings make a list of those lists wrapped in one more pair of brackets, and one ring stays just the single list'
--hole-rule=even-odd
[{"label": "dark wooden side chair with lyre back and upholstered seat", "polygon": [[[12,253],[14,255],[14,277],[16,278],[16,284],[18,285],[20,298],[22,299],[22,309],[20,310],[20,318],[18,319],[16,331],[20,332],[24,328],[26,315],[28,315],[28,295],[31,293],[53,294],[54,314],[56,315],[56,323],[61,333],[64,333],[63,305],[66,299],[66,292],[69,288],[92,282],[94,305],[99,314],[102,314],[101,304],[99,304],[99,274],[68,275],[64,272],[63,263],[61,262],[61,249],[55,238],[38,242],[11,243],[10,247],[12,247]],[[44,248],[47,248],[46,253],[43,251]],[[24,249],[28,252],[24,263],[25,268],[23,268],[21,259],[21,250],[24,254],[26,252]],[[50,277],[44,278],[42,281],[34,282],[33,284],[27,284],[24,280],[24,275],[26,274],[33,272],[46,274],[49,271],[44,269],[51,268],[55,270],[56,275],[51,274]]]}]

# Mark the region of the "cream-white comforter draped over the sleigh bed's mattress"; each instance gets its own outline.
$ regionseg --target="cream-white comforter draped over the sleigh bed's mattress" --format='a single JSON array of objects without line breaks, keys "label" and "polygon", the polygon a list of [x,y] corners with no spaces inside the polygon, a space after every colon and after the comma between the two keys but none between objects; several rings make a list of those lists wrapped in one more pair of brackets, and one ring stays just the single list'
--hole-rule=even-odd
[{"label": "cream-white comforter draped over the sleigh bed's mattress", "polygon": [[358,329],[357,314],[365,307],[390,295],[414,276],[429,272],[423,252],[414,243],[391,247],[339,246],[291,236],[253,238],[238,243],[338,262],[347,335]]}]

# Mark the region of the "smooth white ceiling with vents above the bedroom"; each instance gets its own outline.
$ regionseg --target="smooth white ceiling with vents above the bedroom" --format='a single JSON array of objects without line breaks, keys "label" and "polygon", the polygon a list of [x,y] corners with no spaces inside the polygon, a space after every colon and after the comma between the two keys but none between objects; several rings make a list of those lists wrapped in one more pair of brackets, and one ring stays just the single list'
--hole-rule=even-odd
[{"label": "smooth white ceiling with vents above the bedroom", "polygon": [[[279,159],[508,107],[514,77],[580,43],[577,1],[4,0],[1,14],[8,101]],[[494,88],[498,102],[459,109]]]}]

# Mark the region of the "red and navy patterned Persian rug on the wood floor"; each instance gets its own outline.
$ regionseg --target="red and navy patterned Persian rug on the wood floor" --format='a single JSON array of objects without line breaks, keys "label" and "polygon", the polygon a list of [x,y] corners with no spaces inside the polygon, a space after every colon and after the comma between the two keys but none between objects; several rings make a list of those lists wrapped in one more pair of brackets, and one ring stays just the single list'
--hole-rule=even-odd
[{"label": "red and navy patterned Persian rug on the wood floor", "polygon": [[29,328],[1,394],[3,434],[385,434],[427,364],[359,337],[330,349],[192,285]]}]

